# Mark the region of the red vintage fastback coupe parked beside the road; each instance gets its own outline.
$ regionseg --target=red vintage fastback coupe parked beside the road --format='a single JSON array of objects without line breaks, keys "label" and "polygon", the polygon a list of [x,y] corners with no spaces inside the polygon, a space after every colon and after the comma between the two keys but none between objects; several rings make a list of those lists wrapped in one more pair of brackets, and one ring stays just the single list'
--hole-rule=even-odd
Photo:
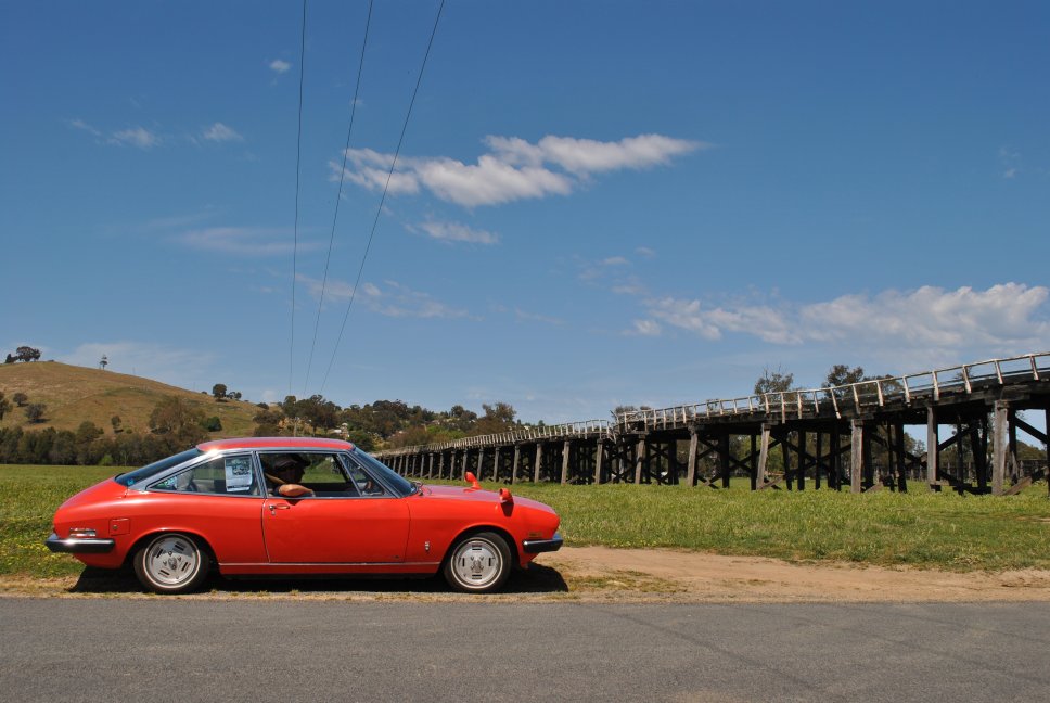
[{"label": "red vintage fastback coupe parked beside the road", "polygon": [[559,517],[505,488],[406,481],[346,442],[207,442],[80,491],[55,512],[51,551],[89,566],[129,561],[161,593],[227,576],[430,575],[500,588],[513,566],[562,546]]}]

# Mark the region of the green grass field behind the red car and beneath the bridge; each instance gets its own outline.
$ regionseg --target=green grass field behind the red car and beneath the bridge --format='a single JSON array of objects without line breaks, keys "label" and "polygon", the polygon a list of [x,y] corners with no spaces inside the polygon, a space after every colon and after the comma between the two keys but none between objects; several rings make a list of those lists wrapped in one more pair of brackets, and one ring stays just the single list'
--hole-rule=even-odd
[{"label": "green grass field behind the red car and beneath the bridge", "polygon": [[[0,466],[0,575],[80,573],[79,562],[43,546],[51,517],[67,497],[118,471]],[[752,493],[746,482],[728,490],[518,484],[513,493],[552,506],[569,546],[670,547],[950,571],[1050,570],[1045,484],[1009,498]]]}]

